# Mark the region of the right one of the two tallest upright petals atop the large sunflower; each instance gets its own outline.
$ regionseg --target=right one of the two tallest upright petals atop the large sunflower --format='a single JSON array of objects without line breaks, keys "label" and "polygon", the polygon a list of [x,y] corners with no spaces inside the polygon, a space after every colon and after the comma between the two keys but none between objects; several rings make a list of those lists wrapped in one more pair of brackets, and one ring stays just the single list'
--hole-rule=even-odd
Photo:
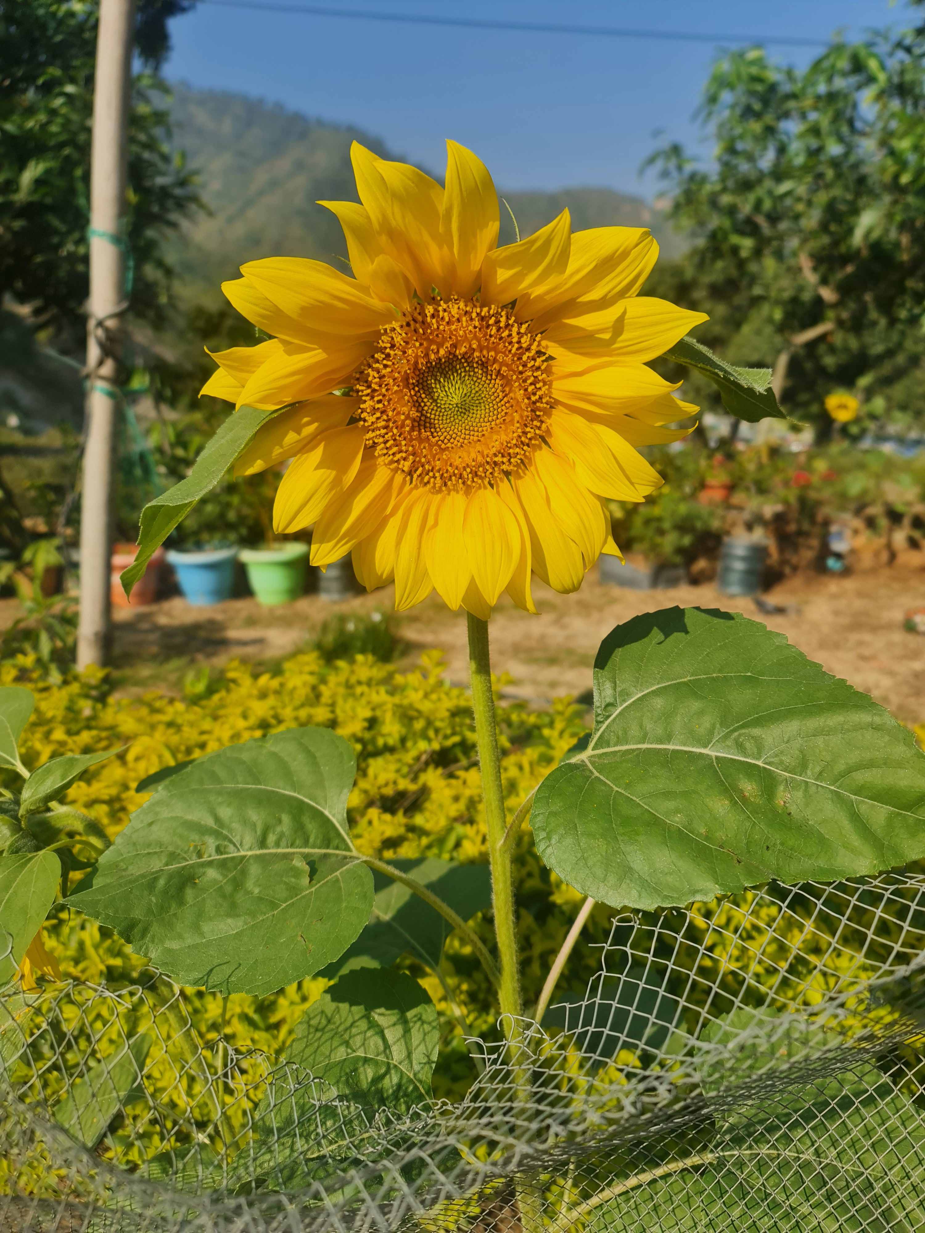
[{"label": "right one of the two tallest upright petals atop the large sunflower", "polygon": [[498,243],[498,195],[486,165],[456,142],[446,142],[440,231],[455,258],[449,291],[470,300],[482,281],[482,260]]}]

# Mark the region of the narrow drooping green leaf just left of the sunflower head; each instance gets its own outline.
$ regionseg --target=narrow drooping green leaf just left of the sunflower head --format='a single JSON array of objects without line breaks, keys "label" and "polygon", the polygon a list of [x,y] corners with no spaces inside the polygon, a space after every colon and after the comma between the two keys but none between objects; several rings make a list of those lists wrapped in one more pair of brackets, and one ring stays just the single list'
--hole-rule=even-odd
[{"label": "narrow drooping green leaf just left of the sunflower head", "polygon": [[[289,404],[292,406],[292,404]],[[184,520],[186,514],[201,497],[218,483],[224,472],[240,457],[258,430],[264,424],[289,411],[289,406],[275,411],[258,411],[257,407],[240,407],[224,420],[211,438],[192,470],[166,492],[149,501],[142,510],[138,531],[138,554],[134,561],[122,572],[122,587],[127,596],[144,573],[144,567],[152,555],[164,543],[170,531]]]}]

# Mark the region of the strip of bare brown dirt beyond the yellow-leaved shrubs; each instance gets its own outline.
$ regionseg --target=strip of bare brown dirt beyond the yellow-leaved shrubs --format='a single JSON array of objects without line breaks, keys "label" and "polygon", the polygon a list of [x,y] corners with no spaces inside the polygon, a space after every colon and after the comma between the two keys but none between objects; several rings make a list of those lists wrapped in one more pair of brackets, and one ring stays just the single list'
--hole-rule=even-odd
[{"label": "strip of bare brown dirt beyond the yellow-leaved shrubs", "polygon": [[[673,604],[742,612],[781,630],[810,658],[872,694],[906,721],[925,720],[925,637],[906,633],[909,608],[925,605],[925,572],[897,566],[849,576],[798,575],[765,599],[783,612],[766,614],[752,599],[720,596],[712,583],[671,591],[629,591],[602,584],[592,570],[577,594],[559,596],[534,584],[540,616],[516,609],[504,597],[491,621],[492,662],[513,683],[508,697],[541,704],[559,694],[580,695],[591,687],[591,667],[601,639],[630,616]],[[294,604],[260,608],[255,599],[232,599],[192,608],[175,597],[147,608],[116,609],[115,667],[127,692],[176,689],[190,667],[231,658],[274,661],[298,650],[332,612],[391,609],[392,588],[332,604],[305,596]],[[14,600],[0,600],[0,626],[12,620]],[[408,644],[403,662],[439,647],[448,677],[466,681],[466,633],[461,613],[432,596],[398,618]]]}]

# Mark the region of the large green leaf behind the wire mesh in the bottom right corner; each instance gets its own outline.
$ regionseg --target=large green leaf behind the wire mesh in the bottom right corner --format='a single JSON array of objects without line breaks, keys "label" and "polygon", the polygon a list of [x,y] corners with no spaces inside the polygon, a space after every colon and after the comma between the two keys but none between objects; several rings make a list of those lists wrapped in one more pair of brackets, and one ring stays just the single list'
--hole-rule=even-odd
[{"label": "large green leaf behind the wire mesh in the bottom right corner", "polygon": [[[820,1058],[837,1048],[834,1034],[775,1011],[734,1011],[702,1038],[723,1047],[707,1055],[722,1086],[749,1088],[718,1106],[712,1142],[659,1169],[612,1179],[623,1194],[592,1197],[581,1212],[585,1228],[925,1228],[925,1118],[868,1060],[858,1057],[832,1074]],[[768,1075],[763,1088],[755,1086],[760,1074]],[[718,1090],[713,1079],[704,1088]]]}]

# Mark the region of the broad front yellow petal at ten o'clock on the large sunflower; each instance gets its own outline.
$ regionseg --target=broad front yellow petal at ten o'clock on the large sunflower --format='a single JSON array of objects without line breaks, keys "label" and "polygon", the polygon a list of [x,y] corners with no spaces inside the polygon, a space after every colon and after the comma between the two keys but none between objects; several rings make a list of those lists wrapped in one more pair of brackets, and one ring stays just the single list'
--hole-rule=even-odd
[{"label": "broad front yellow petal at ten o'clock on the large sunflower", "polygon": [[308,256],[266,256],[242,265],[240,272],[307,330],[377,338],[395,321],[388,305],[374,300],[356,279]]}]

